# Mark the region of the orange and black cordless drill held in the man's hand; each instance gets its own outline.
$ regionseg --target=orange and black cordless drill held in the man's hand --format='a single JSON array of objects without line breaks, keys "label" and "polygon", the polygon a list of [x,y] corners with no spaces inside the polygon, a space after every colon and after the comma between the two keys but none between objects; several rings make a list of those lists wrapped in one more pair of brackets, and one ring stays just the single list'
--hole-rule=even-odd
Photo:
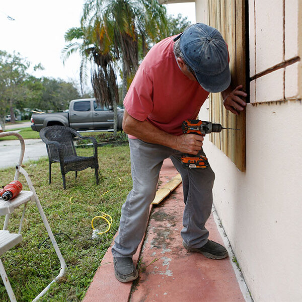
[{"label": "orange and black cordless drill held in the man's hand", "polygon": [[[220,132],[222,129],[239,130],[234,128],[223,128],[220,124],[213,124],[201,120],[185,120],[183,121],[181,128],[185,134],[191,133],[201,136],[205,136],[205,134],[211,132]],[[183,154],[181,156],[181,162],[182,166],[186,169],[206,169],[209,165],[207,158],[202,155]]]}]

